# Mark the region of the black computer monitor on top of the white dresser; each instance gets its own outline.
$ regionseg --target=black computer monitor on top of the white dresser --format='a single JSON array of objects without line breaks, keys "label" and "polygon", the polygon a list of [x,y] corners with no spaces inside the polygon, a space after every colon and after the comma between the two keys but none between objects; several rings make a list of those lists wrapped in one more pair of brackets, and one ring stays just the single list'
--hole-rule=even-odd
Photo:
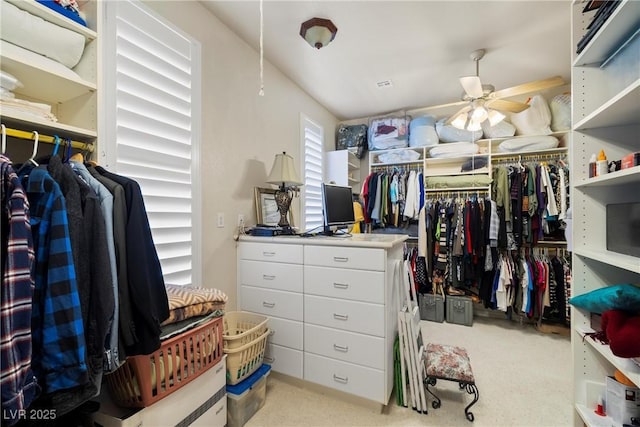
[{"label": "black computer monitor on top of the white dresser", "polygon": [[329,236],[334,229],[355,224],[351,187],[322,183],[322,217],[324,234]]}]

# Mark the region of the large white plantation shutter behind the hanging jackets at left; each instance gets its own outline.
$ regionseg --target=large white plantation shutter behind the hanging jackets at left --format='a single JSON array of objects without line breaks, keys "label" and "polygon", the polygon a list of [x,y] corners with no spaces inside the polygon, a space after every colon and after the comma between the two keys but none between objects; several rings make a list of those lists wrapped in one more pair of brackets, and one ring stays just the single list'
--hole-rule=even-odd
[{"label": "large white plantation shutter behind the hanging jackets at left", "polygon": [[140,184],[165,283],[201,285],[200,45],[139,2],[108,2],[107,26],[112,169]]}]

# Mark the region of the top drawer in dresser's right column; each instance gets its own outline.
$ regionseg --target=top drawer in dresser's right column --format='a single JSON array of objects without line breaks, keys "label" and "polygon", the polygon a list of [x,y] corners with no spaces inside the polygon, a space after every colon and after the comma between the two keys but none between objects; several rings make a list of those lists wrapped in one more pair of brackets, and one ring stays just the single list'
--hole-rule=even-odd
[{"label": "top drawer in dresser's right column", "polygon": [[384,271],[384,249],[305,246],[304,264],[356,270]]}]

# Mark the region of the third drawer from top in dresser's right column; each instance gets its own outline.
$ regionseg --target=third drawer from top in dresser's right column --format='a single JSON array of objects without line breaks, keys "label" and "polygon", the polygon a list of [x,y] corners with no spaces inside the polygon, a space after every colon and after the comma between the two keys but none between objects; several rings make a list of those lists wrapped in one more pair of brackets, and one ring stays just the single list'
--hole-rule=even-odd
[{"label": "third drawer from top in dresser's right column", "polygon": [[384,337],[384,306],[379,304],[305,295],[304,321]]}]

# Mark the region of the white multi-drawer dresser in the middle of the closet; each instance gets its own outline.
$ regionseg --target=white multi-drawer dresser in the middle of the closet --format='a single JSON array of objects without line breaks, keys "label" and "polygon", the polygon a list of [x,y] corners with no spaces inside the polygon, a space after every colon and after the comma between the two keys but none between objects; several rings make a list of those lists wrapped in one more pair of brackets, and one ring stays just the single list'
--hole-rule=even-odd
[{"label": "white multi-drawer dresser in the middle of the closet", "polygon": [[238,310],[269,316],[276,372],[383,405],[393,389],[405,235],[252,237],[238,242]]}]

